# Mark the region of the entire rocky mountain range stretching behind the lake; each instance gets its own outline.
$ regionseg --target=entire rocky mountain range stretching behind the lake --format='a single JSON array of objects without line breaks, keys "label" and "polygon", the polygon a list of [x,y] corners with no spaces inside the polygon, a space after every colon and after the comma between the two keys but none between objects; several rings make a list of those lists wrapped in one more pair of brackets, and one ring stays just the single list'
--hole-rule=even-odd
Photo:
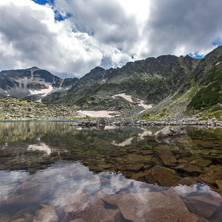
[{"label": "entire rocky mountain range stretching behind the lake", "polygon": [[164,55],[62,80],[36,67],[0,73],[0,94],[144,119],[222,120],[222,46],[203,59]]}]

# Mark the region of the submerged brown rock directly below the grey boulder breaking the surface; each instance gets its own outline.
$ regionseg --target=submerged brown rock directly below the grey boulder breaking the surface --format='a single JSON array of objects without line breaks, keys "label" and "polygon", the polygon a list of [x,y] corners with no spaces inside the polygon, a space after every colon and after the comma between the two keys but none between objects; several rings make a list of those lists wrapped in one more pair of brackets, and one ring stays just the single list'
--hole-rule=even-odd
[{"label": "submerged brown rock directly below the grey boulder breaking the surface", "polygon": [[177,159],[174,157],[170,151],[170,146],[159,145],[155,148],[155,153],[163,161],[166,166],[175,166]]}]

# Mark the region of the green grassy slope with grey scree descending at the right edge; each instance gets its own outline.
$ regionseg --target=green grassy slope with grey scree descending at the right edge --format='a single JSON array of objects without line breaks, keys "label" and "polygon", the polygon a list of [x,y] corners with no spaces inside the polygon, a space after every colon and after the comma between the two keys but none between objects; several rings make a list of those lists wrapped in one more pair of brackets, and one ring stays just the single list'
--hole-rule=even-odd
[{"label": "green grassy slope with grey scree descending at the right edge", "polygon": [[[222,47],[218,47],[190,73],[184,87],[141,116],[144,119],[216,118],[222,120]],[[182,93],[181,93],[182,92]]]}]

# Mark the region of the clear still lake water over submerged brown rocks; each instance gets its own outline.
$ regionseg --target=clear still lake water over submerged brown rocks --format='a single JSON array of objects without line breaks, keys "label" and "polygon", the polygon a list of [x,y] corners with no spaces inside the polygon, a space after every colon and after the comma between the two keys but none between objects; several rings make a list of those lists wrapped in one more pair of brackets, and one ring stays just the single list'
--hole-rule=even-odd
[{"label": "clear still lake water over submerged brown rocks", "polygon": [[1,122],[0,221],[222,221],[222,129],[161,128]]}]

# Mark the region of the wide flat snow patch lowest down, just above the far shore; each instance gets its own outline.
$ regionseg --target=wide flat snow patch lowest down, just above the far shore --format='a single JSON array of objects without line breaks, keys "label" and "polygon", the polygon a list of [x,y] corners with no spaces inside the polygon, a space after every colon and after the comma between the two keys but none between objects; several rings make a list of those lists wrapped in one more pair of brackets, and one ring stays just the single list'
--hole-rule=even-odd
[{"label": "wide flat snow patch lowest down, just above the far shore", "polygon": [[81,117],[95,117],[95,118],[110,118],[113,116],[119,116],[118,112],[115,111],[107,111],[107,110],[100,110],[100,111],[84,111],[79,110],[77,111]]}]

